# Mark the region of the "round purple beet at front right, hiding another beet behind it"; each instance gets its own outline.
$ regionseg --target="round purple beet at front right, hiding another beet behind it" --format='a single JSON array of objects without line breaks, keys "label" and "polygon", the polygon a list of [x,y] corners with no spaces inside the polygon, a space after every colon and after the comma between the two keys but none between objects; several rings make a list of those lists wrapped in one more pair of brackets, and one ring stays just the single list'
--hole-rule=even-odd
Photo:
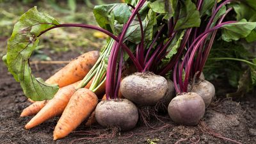
[{"label": "round purple beet at front right, hiding another beet behind it", "polygon": [[204,100],[197,93],[181,93],[170,102],[168,113],[178,124],[196,125],[205,113]]}]

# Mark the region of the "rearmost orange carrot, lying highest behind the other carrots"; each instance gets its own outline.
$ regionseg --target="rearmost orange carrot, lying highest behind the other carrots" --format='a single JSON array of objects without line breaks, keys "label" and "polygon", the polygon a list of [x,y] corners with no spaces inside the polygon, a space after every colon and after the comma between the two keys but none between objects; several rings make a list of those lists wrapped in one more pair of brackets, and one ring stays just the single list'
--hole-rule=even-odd
[{"label": "rearmost orange carrot, lying highest behind the other carrots", "polygon": [[68,65],[61,68],[56,74],[47,79],[45,83],[57,83],[60,88],[75,83],[86,76],[98,58],[99,51],[86,52],[78,56],[75,60],[70,61]]}]

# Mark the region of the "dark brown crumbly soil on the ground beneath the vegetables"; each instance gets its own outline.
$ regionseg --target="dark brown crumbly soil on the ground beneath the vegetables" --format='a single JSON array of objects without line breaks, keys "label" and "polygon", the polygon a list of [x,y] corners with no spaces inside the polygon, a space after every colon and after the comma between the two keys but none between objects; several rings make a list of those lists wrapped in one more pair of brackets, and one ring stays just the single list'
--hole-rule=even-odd
[{"label": "dark brown crumbly soil on the ground beneath the vegetables", "polygon": [[[55,55],[55,60],[70,60],[79,55],[75,52]],[[36,76],[47,78],[63,65],[32,65]],[[242,99],[223,99],[230,88],[217,85],[217,95],[207,109],[203,120],[196,127],[176,125],[168,115],[159,115],[147,127],[138,124],[128,132],[99,125],[84,127],[81,124],[62,140],[53,141],[52,131],[59,117],[52,118],[29,131],[24,125],[31,117],[20,118],[22,109],[29,106],[19,83],[8,73],[0,62],[0,141],[1,143],[256,143],[256,97],[250,93]],[[225,137],[225,138],[223,138]]]}]

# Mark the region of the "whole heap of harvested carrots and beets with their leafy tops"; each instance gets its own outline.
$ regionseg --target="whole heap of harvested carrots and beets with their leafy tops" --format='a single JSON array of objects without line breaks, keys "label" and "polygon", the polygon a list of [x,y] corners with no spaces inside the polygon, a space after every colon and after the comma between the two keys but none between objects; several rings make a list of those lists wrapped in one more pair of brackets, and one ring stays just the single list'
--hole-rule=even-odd
[{"label": "whole heap of harvested carrots and beets with their leafy tops", "polygon": [[[131,0],[95,6],[93,13],[101,28],[60,24],[36,7],[15,24],[3,61],[33,102],[20,115],[35,115],[25,129],[61,115],[54,140],[84,120],[129,131],[138,121],[147,124],[145,108],[168,111],[177,124],[197,125],[215,94],[202,73],[212,45],[256,40],[251,0]],[[29,58],[41,35],[63,27],[95,29],[109,38],[102,51],[79,56],[44,82],[31,74]],[[245,62],[256,84],[255,58],[216,60]]]}]

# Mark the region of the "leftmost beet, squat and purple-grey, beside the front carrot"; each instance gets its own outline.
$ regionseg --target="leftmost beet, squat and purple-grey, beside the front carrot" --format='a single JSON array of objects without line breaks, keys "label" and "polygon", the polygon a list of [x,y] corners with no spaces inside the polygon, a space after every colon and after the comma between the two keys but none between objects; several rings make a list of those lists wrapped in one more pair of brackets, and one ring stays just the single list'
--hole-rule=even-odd
[{"label": "leftmost beet, squat and purple-grey, beside the front carrot", "polygon": [[118,126],[127,131],[138,122],[138,109],[127,99],[102,100],[95,109],[95,118],[100,125]]}]

